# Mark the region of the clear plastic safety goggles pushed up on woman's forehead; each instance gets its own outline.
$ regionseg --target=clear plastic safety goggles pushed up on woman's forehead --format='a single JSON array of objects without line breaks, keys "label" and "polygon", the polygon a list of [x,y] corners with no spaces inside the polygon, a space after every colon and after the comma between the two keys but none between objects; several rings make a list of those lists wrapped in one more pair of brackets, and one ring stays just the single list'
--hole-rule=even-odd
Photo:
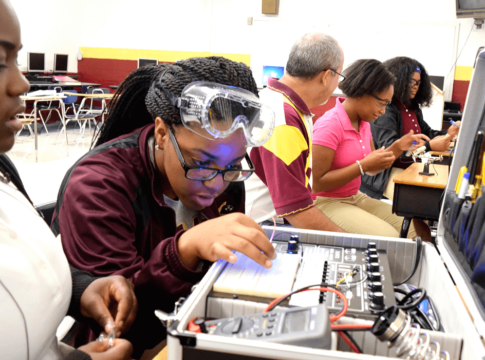
[{"label": "clear plastic safety goggles pushed up on woman's forehead", "polygon": [[164,93],[180,109],[182,124],[204,138],[225,138],[242,129],[246,146],[253,147],[263,145],[273,133],[273,109],[250,91],[197,81],[188,84],[180,97]]}]

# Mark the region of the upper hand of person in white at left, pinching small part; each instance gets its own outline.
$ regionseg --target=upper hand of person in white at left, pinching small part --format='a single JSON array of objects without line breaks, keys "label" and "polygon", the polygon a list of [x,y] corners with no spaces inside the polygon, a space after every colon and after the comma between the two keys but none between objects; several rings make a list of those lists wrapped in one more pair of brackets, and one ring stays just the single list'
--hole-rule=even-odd
[{"label": "upper hand of person in white at left, pinching small part", "polygon": [[96,279],[81,296],[81,314],[96,320],[113,336],[119,337],[130,328],[137,310],[133,284],[123,276]]}]

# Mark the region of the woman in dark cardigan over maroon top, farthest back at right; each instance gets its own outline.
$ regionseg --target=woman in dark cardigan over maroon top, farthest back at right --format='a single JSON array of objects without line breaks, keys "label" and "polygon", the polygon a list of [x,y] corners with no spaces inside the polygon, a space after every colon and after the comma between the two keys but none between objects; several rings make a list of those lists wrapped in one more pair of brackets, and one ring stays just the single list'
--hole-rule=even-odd
[{"label": "woman in dark cardigan over maroon top, farthest back at right", "polygon": [[[458,134],[459,128],[451,126],[448,131],[433,130],[423,119],[420,107],[429,106],[433,96],[431,82],[424,66],[408,57],[396,57],[384,62],[384,65],[396,76],[394,96],[387,105],[386,113],[371,123],[375,148],[388,148],[396,140],[413,130],[415,134],[424,134],[430,138],[425,143],[426,151],[445,151],[450,141]],[[459,123],[459,122],[458,122]],[[404,152],[393,166],[376,176],[362,176],[360,190],[375,198],[383,195],[393,199],[394,185],[392,178],[412,163]]]}]

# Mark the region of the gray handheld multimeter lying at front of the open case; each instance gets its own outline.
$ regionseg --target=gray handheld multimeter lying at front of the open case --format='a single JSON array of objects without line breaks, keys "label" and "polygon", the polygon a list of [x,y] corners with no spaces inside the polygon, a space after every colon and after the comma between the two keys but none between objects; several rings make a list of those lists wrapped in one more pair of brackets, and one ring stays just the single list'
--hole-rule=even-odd
[{"label": "gray handheld multimeter lying at front of the open case", "polygon": [[205,322],[207,333],[240,339],[330,349],[331,332],[324,304]]}]

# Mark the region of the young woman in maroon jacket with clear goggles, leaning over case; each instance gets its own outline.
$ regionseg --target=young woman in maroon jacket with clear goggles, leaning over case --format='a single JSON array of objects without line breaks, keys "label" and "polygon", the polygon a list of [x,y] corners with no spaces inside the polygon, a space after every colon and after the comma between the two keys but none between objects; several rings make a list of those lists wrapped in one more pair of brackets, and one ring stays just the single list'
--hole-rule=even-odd
[{"label": "young woman in maroon jacket with clear goggles, leaning over case", "polygon": [[112,105],[96,147],[66,174],[52,228],[74,265],[133,281],[136,354],[163,340],[153,311],[173,311],[206,261],[234,262],[237,250],[271,267],[242,181],[254,171],[246,147],[268,140],[274,113],[249,68],[220,57],[143,67]]}]

